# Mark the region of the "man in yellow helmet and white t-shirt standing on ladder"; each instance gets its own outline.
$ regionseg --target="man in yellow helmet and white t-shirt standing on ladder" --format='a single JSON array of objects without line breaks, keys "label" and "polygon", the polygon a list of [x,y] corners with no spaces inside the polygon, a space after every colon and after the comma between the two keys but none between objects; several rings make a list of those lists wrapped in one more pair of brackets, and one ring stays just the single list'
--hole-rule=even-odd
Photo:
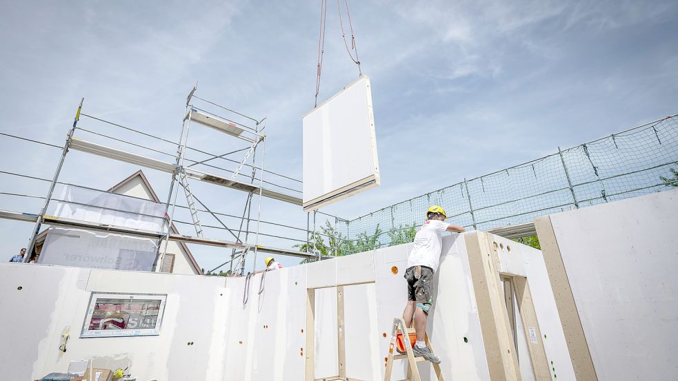
[{"label": "man in yellow helmet and white t-shirt standing on ladder", "polygon": [[[463,233],[463,227],[446,223],[445,210],[438,205],[428,208],[426,222],[423,223],[415,235],[412,251],[408,256],[405,279],[408,284],[408,302],[403,311],[403,320],[406,327],[415,320],[417,342],[415,342],[415,356],[421,356],[433,362],[440,363],[440,358],[426,347],[426,318],[433,305],[433,274],[438,269],[442,250],[442,232],[453,231]],[[399,350],[398,350],[399,351]],[[401,354],[404,352],[399,351]]]}]

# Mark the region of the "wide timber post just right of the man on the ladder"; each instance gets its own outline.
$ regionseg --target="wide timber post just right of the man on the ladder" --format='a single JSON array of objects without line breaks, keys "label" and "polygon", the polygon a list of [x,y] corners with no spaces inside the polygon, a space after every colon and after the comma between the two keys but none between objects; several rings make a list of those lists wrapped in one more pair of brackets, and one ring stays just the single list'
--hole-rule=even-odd
[{"label": "wide timber post just right of the man on the ladder", "polygon": [[494,250],[488,234],[471,231],[463,234],[468,249],[468,265],[478,306],[485,353],[492,381],[520,381],[518,358],[513,350],[508,312],[503,302],[501,282]]}]

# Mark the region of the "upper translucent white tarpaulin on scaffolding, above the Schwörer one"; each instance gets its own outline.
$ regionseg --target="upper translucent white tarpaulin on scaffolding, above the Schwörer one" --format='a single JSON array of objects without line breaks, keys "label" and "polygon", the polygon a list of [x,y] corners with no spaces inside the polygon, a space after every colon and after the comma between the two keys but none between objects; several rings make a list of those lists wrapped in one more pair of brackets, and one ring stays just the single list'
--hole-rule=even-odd
[{"label": "upper translucent white tarpaulin on scaffolding, above the Schw\u00f6rer one", "polygon": [[130,229],[162,231],[165,205],[121,194],[63,185],[53,216]]}]

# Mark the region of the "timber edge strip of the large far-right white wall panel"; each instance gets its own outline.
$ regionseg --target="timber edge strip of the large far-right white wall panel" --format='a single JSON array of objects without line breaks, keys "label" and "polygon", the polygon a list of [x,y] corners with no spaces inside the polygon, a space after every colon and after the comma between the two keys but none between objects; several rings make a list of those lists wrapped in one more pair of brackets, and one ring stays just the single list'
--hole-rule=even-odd
[{"label": "timber edge strip of the large far-right white wall panel", "polygon": [[597,381],[591,353],[588,349],[584,327],[581,326],[575,297],[572,295],[570,280],[565,270],[558,242],[548,216],[535,218],[537,237],[541,244],[541,254],[544,255],[548,280],[551,283],[553,297],[558,308],[560,322],[563,325],[565,340],[575,369],[575,377],[579,381]]}]

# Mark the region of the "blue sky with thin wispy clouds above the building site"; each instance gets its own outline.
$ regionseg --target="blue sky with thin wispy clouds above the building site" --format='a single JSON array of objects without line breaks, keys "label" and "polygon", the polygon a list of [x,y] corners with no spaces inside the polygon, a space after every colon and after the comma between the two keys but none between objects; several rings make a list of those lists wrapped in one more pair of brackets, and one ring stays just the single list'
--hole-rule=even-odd
[{"label": "blue sky with thin wispy clouds above the building site", "polygon": [[[350,9],[372,81],[382,183],[327,207],[330,214],[355,218],[678,112],[675,1],[382,0]],[[301,178],[319,15],[319,1],[7,3],[0,131],[61,145],[85,96],[88,114],[174,141],[198,81],[202,97],[267,116],[266,167]],[[319,99],[357,74],[330,1]],[[209,137],[195,138],[219,152]],[[0,148],[0,170],[31,176],[52,176],[59,158],[5,137]],[[62,180],[106,189],[136,169],[75,152]],[[145,173],[164,197],[169,176]],[[2,192],[46,192],[42,183],[0,178]],[[212,209],[241,208],[239,194],[196,188]],[[0,208],[36,212],[39,203],[0,196]],[[263,203],[262,217],[306,225],[298,208],[279,203]],[[25,223],[0,221],[0,229],[6,256],[30,234]],[[206,268],[223,255],[197,251]]]}]

